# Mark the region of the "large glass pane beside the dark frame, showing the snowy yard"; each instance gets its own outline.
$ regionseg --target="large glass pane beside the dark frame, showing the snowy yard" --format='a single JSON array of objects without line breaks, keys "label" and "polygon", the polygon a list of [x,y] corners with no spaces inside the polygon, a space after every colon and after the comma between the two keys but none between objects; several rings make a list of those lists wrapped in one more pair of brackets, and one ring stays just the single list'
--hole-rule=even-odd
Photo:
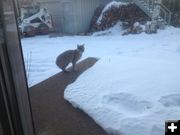
[{"label": "large glass pane beside the dark frame, showing the snowy yard", "polygon": [[167,5],[37,1],[19,0],[19,30],[38,134],[163,134],[180,118],[180,29]]}]

